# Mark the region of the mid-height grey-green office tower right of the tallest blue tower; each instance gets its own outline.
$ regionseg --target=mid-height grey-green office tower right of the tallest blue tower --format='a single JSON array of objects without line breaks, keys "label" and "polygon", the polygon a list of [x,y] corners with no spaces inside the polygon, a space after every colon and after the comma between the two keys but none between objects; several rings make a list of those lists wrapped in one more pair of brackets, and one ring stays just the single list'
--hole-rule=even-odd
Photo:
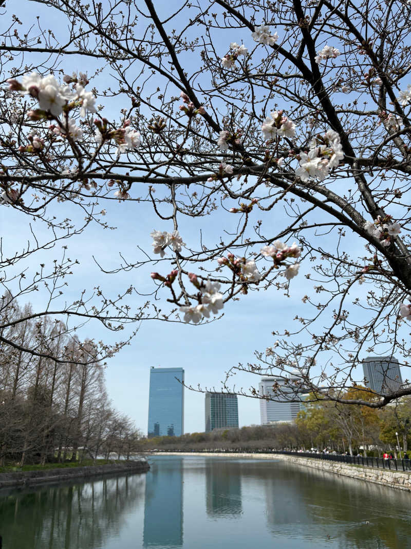
[{"label": "mid-height grey-green office tower right of the tallest blue tower", "polygon": [[237,395],[206,393],[206,433],[213,429],[238,427]]}]

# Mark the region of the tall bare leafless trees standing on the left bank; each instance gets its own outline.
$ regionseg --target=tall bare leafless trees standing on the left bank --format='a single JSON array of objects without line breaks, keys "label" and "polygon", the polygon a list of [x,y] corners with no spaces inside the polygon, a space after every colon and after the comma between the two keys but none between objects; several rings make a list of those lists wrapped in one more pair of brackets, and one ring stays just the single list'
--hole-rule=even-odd
[{"label": "tall bare leafless trees standing on the left bank", "polygon": [[[0,338],[14,345],[0,339],[0,466],[95,460],[111,452],[128,457],[140,432],[112,407],[94,342],[30,312],[15,302],[2,310],[8,328]],[[65,362],[53,360],[61,355]]]}]

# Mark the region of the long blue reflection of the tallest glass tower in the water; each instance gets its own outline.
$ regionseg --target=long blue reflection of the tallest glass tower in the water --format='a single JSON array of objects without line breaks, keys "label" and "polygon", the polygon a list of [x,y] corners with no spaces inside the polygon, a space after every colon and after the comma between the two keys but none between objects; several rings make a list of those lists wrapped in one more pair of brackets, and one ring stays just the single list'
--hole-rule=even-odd
[{"label": "long blue reflection of the tallest glass tower in the water", "polygon": [[154,463],[147,473],[144,547],[182,546],[182,460]]}]

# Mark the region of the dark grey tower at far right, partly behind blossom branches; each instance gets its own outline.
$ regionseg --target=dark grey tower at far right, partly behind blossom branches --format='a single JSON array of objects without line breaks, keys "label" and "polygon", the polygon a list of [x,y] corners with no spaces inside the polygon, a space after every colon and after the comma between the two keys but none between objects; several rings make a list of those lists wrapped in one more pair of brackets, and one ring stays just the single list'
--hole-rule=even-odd
[{"label": "dark grey tower at far right, partly behind blossom branches", "polygon": [[379,395],[392,393],[402,385],[401,370],[395,356],[367,356],[362,367],[367,387]]}]

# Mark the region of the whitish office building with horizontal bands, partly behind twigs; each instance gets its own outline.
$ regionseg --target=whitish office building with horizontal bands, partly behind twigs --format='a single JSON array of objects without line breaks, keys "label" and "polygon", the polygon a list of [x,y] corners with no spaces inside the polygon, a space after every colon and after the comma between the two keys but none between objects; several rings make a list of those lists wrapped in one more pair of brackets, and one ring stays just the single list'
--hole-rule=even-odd
[{"label": "whitish office building with horizontal bands, partly behind twigs", "polygon": [[[295,380],[298,384],[299,377],[290,377],[290,380]],[[260,395],[270,396],[273,400],[260,400],[260,417],[261,425],[269,425],[276,422],[293,422],[301,409],[300,402],[290,402],[287,399],[301,398],[302,393],[306,393],[306,389],[301,387],[292,389],[286,383],[283,377],[269,376],[261,379],[259,383]],[[277,396],[273,391],[273,385],[281,385],[282,396]],[[300,394],[301,393],[301,394]],[[284,402],[286,400],[286,402]],[[283,402],[282,402],[283,401]]]}]

